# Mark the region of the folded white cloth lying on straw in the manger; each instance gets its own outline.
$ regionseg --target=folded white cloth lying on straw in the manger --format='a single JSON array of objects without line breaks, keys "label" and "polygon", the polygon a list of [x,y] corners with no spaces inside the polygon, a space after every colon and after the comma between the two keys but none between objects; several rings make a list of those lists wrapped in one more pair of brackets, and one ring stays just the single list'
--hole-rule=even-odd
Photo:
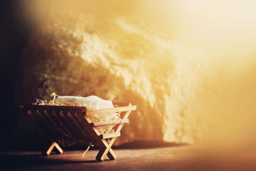
[{"label": "folded white cloth lying on straw in the manger", "polygon": [[[101,99],[101,98],[99,98],[99,97],[97,97],[95,95],[91,95],[89,97],[59,96],[59,97],[56,98],[56,100],[58,102],[61,102],[61,103],[65,103],[65,102],[73,103],[75,100],[77,100],[81,105],[83,105],[84,103],[87,106],[91,105],[91,107],[94,110],[114,108],[113,103],[111,101],[103,100],[103,99]],[[75,106],[79,106],[79,103],[74,103],[74,105]],[[118,118],[116,113],[110,113],[109,115],[108,115],[108,113],[105,113],[105,114],[100,114],[100,115],[103,118],[106,118],[106,120],[113,120],[113,118]]]}]

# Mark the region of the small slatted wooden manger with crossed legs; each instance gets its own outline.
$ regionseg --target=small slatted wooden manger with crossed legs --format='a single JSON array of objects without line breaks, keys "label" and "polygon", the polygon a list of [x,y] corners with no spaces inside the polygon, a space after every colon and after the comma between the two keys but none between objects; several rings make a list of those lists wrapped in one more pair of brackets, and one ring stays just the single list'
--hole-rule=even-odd
[{"label": "small slatted wooden manger with crossed legs", "polygon": [[[51,151],[62,154],[60,146],[69,145],[94,145],[100,146],[96,160],[102,162],[107,155],[110,160],[116,158],[112,145],[116,137],[120,136],[124,123],[129,123],[128,116],[136,110],[136,105],[131,103],[115,103],[117,108],[89,110],[78,106],[50,106],[50,105],[25,105],[20,106],[23,116],[30,122],[35,122],[36,132],[44,137],[46,148],[42,154],[48,156]],[[91,122],[89,116],[95,114],[121,112],[121,120]],[[97,126],[114,125],[114,132],[101,134]]]}]

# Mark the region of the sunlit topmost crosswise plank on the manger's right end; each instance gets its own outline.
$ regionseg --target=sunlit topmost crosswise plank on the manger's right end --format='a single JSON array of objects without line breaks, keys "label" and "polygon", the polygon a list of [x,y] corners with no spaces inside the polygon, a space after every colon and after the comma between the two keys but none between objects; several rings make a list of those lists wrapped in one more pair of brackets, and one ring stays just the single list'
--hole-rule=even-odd
[{"label": "sunlit topmost crosswise plank on the manger's right end", "polygon": [[119,108],[89,110],[89,111],[86,111],[86,116],[99,115],[99,114],[104,114],[104,113],[132,111],[132,110],[136,110],[136,105],[133,105],[133,106],[123,106],[123,107],[119,107]]}]

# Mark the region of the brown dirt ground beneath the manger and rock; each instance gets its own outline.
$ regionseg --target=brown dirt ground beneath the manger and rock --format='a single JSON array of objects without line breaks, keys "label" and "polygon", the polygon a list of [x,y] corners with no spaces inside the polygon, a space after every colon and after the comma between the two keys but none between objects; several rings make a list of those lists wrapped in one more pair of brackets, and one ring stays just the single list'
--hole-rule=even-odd
[{"label": "brown dirt ground beneath the manger and rock", "polygon": [[146,149],[114,149],[118,156],[97,162],[98,150],[54,152],[42,156],[39,151],[0,152],[1,170],[255,170],[254,159],[216,158],[197,147],[172,146]]}]

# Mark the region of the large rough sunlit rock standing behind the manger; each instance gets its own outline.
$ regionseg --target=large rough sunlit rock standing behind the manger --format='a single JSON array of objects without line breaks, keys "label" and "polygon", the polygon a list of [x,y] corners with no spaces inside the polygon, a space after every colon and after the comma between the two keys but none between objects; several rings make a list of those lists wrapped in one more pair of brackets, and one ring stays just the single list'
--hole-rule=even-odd
[{"label": "large rough sunlit rock standing behind the manger", "polygon": [[20,73],[23,104],[52,92],[136,104],[116,145],[194,143],[208,130],[217,99],[204,53],[122,17],[55,14],[32,34]]}]

